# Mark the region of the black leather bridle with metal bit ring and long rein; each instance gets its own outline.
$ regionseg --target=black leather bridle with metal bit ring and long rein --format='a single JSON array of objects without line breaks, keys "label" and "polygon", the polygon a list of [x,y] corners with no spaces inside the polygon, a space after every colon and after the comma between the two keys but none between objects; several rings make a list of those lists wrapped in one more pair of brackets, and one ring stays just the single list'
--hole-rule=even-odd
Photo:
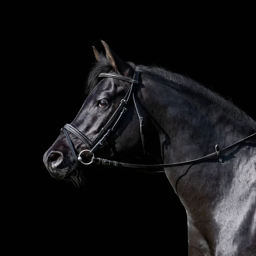
[{"label": "black leather bridle with metal bit ring and long rein", "polygon": [[[130,168],[137,168],[137,169],[141,169],[141,168],[148,169],[148,168],[166,168],[166,167],[175,167],[175,166],[185,166],[185,165],[189,165],[189,164],[201,163],[201,162],[204,162],[204,161],[207,161],[207,160],[210,160],[210,159],[215,159],[215,158],[216,159],[218,158],[218,160],[220,162],[222,162],[221,154],[223,154],[228,149],[233,148],[235,146],[238,146],[241,143],[244,143],[247,140],[250,140],[250,139],[252,139],[253,137],[256,136],[256,133],[252,134],[252,135],[250,135],[250,136],[248,136],[248,137],[246,137],[242,140],[239,140],[238,142],[233,143],[232,145],[229,145],[226,148],[223,148],[221,150],[219,150],[218,145],[216,145],[214,153],[208,154],[207,156],[204,156],[204,157],[201,157],[201,158],[198,158],[198,159],[194,159],[194,160],[190,160],[190,161],[184,161],[184,162],[180,162],[180,163],[141,165],[141,164],[121,163],[121,162],[117,162],[117,161],[113,161],[113,160],[94,157],[93,153],[100,146],[103,145],[104,141],[111,134],[111,132],[116,129],[117,125],[119,124],[119,122],[123,118],[125,112],[127,111],[127,108],[125,106],[131,100],[131,97],[133,98],[134,106],[135,106],[137,115],[139,117],[140,135],[141,135],[141,140],[142,140],[142,144],[143,144],[143,151],[144,151],[144,154],[146,154],[145,140],[144,140],[144,134],[143,134],[143,117],[140,114],[137,102],[136,102],[135,97],[134,97],[134,92],[137,89],[137,86],[140,84],[140,81],[139,81],[140,72],[135,71],[133,79],[128,78],[126,76],[116,75],[116,74],[113,74],[113,73],[100,73],[99,77],[110,77],[110,78],[114,78],[114,79],[119,79],[119,80],[122,80],[122,81],[125,81],[125,82],[128,82],[128,83],[131,83],[131,86],[128,89],[128,92],[125,94],[124,98],[120,101],[120,104],[119,104],[118,108],[116,109],[116,111],[113,113],[111,118],[108,120],[106,125],[102,128],[102,130],[99,132],[99,134],[96,136],[96,138],[93,141],[90,141],[84,134],[82,134],[79,130],[77,130],[72,125],[69,125],[69,124],[64,125],[64,128],[61,129],[61,131],[64,132],[64,134],[67,138],[68,145],[70,147],[70,150],[71,150],[71,152],[73,154],[73,157],[74,157],[77,164],[82,163],[84,165],[89,165],[91,163],[97,163],[97,164],[109,165],[109,166],[130,167]],[[70,139],[67,131],[73,133],[89,149],[82,150],[79,153],[79,156],[77,157],[77,154],[76,154],[74,146],[73,146],[73,142]],[[82,162],[81,154],[83,152],[86,152],[86,151],[89,152],[90,154],[92,154],[92,159],[89,163]],[[163,171],[155,171],[155,172],[163,172]]]}]

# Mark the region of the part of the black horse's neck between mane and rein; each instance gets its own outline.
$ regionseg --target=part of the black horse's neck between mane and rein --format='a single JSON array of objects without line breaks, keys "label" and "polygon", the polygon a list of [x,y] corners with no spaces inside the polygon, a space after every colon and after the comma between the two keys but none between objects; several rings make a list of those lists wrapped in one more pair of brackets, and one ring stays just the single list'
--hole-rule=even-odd
[{"label": "part of the black horse's neck between mane and rein", "polygon": [[[148,77],[144,77],[143,85],[142,104],[158,131],[163,163],[203,157],[213,153],[217,144],[224,148],[255,133],[255,122],[250,128],[237,122],[236,116],[232,116],[232,106],[219,106],[217,98],[209,100],[184,90],[183,85],[168,86]],[[244,119],[247,119],[245,114]]]}]

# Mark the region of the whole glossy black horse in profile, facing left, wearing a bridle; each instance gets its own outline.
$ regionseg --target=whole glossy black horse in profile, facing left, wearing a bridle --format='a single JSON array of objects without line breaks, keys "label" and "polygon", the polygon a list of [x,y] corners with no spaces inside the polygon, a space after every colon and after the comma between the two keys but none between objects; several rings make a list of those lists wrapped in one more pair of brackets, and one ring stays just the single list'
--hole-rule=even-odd
[{"label": "whole glossy black horse in profile, facing left, wearing a bridle", "polygon": [[149,155],[186,209],[189,255],[256,255],[256,122],[192,79],[102,44],[89,96],[44,154],[50,174],[79,177],[96,163],[149,170],[118,162]]}]

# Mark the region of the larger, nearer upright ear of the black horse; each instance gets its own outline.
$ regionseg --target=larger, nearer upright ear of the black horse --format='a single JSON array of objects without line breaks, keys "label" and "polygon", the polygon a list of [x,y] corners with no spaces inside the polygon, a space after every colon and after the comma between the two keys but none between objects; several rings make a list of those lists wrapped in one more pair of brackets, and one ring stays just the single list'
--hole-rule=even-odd
[{"label": "larger, nearer upright ear of the black horse", "polygon": [[109,47],[108,44],[105,43],[105,41],[102,41],[102,44],[106,51],[106,57],[108,59],[108,63],[113,67],[113,69],[118,74],[124,74],[128,75],[131,71],[131,67],[125,62],[122,61]]}]

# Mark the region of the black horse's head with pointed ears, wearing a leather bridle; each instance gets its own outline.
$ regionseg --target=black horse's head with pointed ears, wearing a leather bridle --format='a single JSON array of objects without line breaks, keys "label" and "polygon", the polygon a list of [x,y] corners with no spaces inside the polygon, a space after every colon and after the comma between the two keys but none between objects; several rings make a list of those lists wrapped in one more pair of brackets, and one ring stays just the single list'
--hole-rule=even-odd
[{"label": "black horse's head with pointed ears, wearing a leather bridle", "polygon": [[44,154],[45,166],[57,179],[88,169],[93,153],[111,159],[143,150],[140,123],[131,104],[131,90],[138,89],[132,80],[133,64],[122,61],[104,41],[102,44],[106,55],[93,47],[96,63],[87,79],[89,95],[73,122],[64,126]]}]

